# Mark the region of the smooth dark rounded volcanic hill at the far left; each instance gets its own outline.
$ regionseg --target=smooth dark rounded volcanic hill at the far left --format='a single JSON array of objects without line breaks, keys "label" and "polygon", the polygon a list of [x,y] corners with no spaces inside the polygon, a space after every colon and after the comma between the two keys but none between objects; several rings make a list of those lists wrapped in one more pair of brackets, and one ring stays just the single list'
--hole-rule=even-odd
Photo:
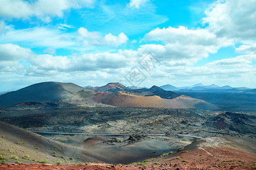
[{"label": "smooth dark rounded volcanic hill at the far left", "polygon": [[0,107],[10,107],[24,102],[52,102],[54,100],[66,100],[72,94],[85,88],[73,83],[43,82],[12,91],[0,96]]}]

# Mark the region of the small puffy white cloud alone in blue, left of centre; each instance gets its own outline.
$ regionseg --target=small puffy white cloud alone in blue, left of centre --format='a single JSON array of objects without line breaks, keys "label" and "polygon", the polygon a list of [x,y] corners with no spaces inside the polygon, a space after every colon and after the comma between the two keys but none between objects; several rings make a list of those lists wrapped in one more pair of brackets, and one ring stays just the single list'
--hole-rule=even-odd
[{"label": "small puffy white cloud alone in blue, left of centre", "polygon": [[114,36],[112,33],[109,33],[102,37],[99,32],[90,32],[88,29],[81,27],[77,33],[79,36],[76,40],[83,41],[82,45],[84,46],[119,46],[125,44],[128,40],[128,37],[123,32],[118,36]]}]

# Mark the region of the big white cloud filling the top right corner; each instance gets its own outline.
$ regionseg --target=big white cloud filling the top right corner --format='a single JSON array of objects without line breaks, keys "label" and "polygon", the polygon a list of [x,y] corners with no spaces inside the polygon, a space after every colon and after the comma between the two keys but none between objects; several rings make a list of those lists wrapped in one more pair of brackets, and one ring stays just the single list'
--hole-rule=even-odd
[{"label": "big white cloud filling the top right corner", "polygon": [[256,0],[218,0],[205,11],[204,23],[218,37],[237,41],[256,38]]}]

